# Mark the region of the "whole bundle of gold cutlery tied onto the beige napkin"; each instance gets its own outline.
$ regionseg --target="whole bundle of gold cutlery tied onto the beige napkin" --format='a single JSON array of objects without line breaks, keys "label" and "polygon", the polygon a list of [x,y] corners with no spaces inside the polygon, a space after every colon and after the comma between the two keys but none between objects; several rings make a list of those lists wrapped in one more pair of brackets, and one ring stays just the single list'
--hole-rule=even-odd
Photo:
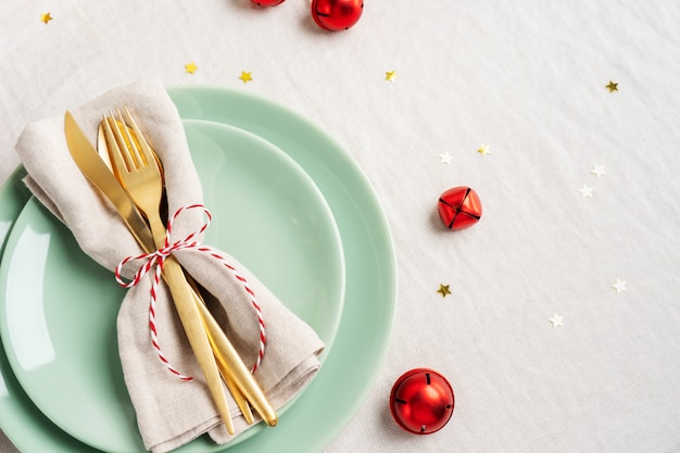
[{"label": "whole bundle of gold cutlery tied onto the beige napkin", "polygon": [[[111,201],[144,252],[163,248],[166,228],[160,214],[164,196],[162,163],[130,112],[124,109],[103,117],[99,153],[70,112],[64,117],[64,130],[74,161]],[[223,380],[248,424],[254,421],[252,406],[267,425],[275,426],[276,411],[207,310],[191,277],[172,255],[164,262],[162,276],[227,431],[234,435],[235,429]]]}]

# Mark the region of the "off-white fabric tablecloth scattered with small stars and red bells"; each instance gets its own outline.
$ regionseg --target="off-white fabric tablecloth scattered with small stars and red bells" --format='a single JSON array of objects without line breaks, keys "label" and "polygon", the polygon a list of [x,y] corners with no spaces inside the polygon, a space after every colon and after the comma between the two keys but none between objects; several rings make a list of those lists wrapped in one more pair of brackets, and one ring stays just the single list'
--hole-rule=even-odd
[{"label": "off-white fabric tablecloth scattered with small stars and red bells", "polygon": [[[114,86],[268,98],[352,154],[396,250],[387,361],[327,453],[678,452],[679,23],[672,0],[366,0],[330,34],[306,0],[5,0],[0,183],[26,124]],[[483,205],[463,231],[436,211],[454,186]],[[456,405],[416,437],[388,398],[419,366]]]}]

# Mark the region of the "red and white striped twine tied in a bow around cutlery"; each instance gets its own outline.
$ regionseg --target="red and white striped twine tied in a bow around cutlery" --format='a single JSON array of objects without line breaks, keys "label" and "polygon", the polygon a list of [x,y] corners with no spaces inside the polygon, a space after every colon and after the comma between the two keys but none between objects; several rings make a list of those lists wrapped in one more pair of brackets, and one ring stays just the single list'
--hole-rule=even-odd
[{"label": "red and white striped twine tied in a bow around cutlery", "polygon": [[[193,210],[193,209],[199,209],[203,211],[206,217],[205,223],[203,224],[201,228],[191,232],[184,239],[171,243],[173,223],[179,216],[179,214],[181,214],[182,212],[187,210]],[[215,249],[209,246],[203,246],[202,243],[194,240],[197,236],[205,231],[205,229],[210,225],[211,219],[212,219],[212,215],[210,211],[203,204],[189,204],[189,205],[178,209],[167,222],[167,230],[165,232],[165,243],[163,248],[151,253],[142,253],[136,256],[127,256],[123,261],[121,261],[121,263],[118,263],[118,265],[115,268],[115,278],[118,285],[121,285],[124,288],[131,288],[135,285],[139,284],[139,281],[141,281],[144,275],[147,275],[151,270],[151,268],[155,266],[155,269],[153,273],[153,280],[151,284],[150,298],[149,298],[149,330],[151,334],[151,344],[155,349],[159,358],[161,360],[161,362],[163,362],[165,367],[181,380],[192,380],[193,378],[190,376],[182,375],[169,363],[169,361],[163,353],[161,345],[159,343],[158,330],[156,330],[156,325],[155,325],[155,302],[158,298],[158,287],[161,282],[161,273],[163,270],[163,264],[165,263],[165,260],[169,255],[172,255],[173,252],[177,250],[193,249],[193,250],[198,250],[199,252],[209,253],[212,257],[222,262],[225,268],[231,273],[234,278],[236,278],[238,281],[241,282],[241,285],[243,285],[245,292],[249,294],[251,304],[253,305],[253,307],[255,309],[255,313],[257,314],[257,325],[260,326],[260,351],[257,352],[257,360],[255,361],[255,364],[253,365],[251,373],[255,373],[255,370],[262,363],[262,360],[264,357],[265,345],[267,342],[267,338],[265,335],[265,324],[262,317],[262,309],[260,309],[260,304],[257,303],[257,298],[255,297],[255,293],[248,285],[248,280],[245,279],[245,277],[241,276],[236,269],[236,267],[229,264],[227,260],[223,255],[221,255]],[[124,281],[121,276],[121,272],[123,270],[123,267],[129,262],[141,261],[141,260],[144,260],[144,263],[135,273],[133,279],[127,282]]]}]

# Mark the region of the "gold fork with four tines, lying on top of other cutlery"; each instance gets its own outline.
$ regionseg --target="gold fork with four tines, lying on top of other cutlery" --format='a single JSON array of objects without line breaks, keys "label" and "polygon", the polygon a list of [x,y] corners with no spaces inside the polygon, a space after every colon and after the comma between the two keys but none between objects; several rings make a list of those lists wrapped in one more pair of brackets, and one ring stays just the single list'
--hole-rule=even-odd
[{"label": "gold fork with four tines, lying on top of other cutlery", "polygon": [[[105,125],[108,124],[109,122],[105,123]],[[136,125],[133,125],[133,128],[137,133]],[[111,152],[114,173],[137,207],[147,216],[155,247],[160,249],[165,244],[165,226],[159,213],[163,196],[163,181],[153,156],[144,147],[141,147],[141,153],[135,153],[136,147],[128,148],[126,146],[117,127],[115,130],[118,130],[117,136],[121,140],[117,142],[118,146],[112,146],[116,142],[113,130],[110,127],[104,127],[104,130],[106,136],[111,133],[109,151]],[[229,415],[227,397],[222,386],[217,364],[213,357],[207,335],[203,329],[199,309],[193,303],[193,297],[186,284],[184,270],[173,256],[168,256],[163,266],[163,274],[165,274],[177,314],[193,354],[205,376],[207,388],[217,411],[227,429],[234,432],[234,424]]]}]

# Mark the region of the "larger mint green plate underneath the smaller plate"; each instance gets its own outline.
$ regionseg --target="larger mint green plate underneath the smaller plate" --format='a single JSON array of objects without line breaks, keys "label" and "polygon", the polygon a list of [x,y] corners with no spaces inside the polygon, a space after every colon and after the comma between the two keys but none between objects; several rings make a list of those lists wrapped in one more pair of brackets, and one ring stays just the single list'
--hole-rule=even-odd
[{"label": "larger mint green plate underneath the smaller plate", "polygon": [[[345,303],[332,350],[319,375],[276,428],[221,450],[320,452],[355,414],[385,358],[396,297],[394,252],[385,215],[352,159],[305,118],[261,98],[226,89],[191,86],[168,91],[182,118],[232,125],[278,147],[310,175],[333,214],[347,269]],[[5,202],[22,205],[25,200],[14,185],[0,192],[0,206]],[[0,427],[22,451],[96,452],[32,404],[2,350],[0,373]],[[207,451],[211,442],[201,438],[187,446]]]}]

